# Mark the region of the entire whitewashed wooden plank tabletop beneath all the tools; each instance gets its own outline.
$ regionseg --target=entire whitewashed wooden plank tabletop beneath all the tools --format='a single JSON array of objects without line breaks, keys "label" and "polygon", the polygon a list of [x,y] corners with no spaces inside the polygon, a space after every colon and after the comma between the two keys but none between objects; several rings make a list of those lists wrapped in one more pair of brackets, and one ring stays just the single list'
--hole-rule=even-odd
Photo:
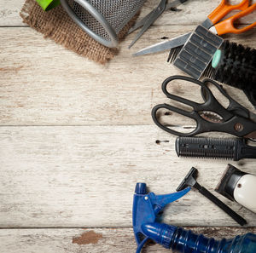
[{"label": "entire whitewashed wooden plank tabletop beneath all the tools", "polygon": [[[158,129],[150,112],[166,101],[162,81],[181,72],[166,63],[168,52],[131,53],[191,32],[219,1],[191,0],[182,12],[166,12],[132,49],[127,47],[135,34],[120,43],[119,55],[106,66],[24,25],[23,1],[0,3],[0,251],[135,252],[131,207],[137,181],[154,193],[172,193],[195,166],[198,180],[213,192],[228,161],[177,158],[176,137]],[[154,5],[147,1],[141,16]],[[242,22],[250,20],[253,15]],[[256,48],[256,29],[225,38]],[[253,110],[241,90],[229,92]],[[178,117],[175,122],[189,124]],[[254,160],[231,164],[255,173]],[[170,204],[164,221],[218,239],[256,233],[255,214],[216,195],[247,219],[247,227],[195,191]],[[150,244],[143,252],[167,250]]]}]

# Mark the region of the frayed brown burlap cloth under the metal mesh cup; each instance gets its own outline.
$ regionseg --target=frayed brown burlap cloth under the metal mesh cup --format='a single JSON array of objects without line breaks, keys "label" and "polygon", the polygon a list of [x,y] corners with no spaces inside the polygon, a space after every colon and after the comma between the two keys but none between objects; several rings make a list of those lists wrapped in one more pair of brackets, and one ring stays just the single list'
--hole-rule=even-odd
[{"label": "frayed brown burlap cloth under the metal mesh cup", "polygon": [[[20,16],[23,22],[63,45],[79,55],[99,63],[106,63],[118,54],[118,49],[109,49],[88,36],[72,19],[65,10],[58,6],[45,12],[35,0],[26,0]],[[137,16],[137,15],[136,15]],[[123,39],[136,17],[129,22],[119,33],[119,39]]]}]

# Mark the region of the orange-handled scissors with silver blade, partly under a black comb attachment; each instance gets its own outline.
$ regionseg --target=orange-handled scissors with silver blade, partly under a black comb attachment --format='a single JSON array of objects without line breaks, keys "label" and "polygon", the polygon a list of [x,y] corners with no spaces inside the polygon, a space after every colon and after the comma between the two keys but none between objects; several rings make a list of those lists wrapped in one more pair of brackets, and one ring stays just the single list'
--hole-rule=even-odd
[{"label": "orange-handled scissors with silver blade, partly under a black comb attachment", "polygon": [[[231,16],[230,18],[223,20],[218,23],[218,21],[222,20],[227,14],[231,11],[238,9],[241,10],[239,13]],[[241,33],[247,32],[248,30],[252,29],[256,26],[256,21],[249,26],[245,26],[241,29],[237,29],[234,26],[234,22],[240,19],[247,14],[252,13],[256,9],[256,3],[250,6],[250,0],[243,0],[241,3],[236,5],[232,5],[227,3],[227,0],[222,0],[222,2],[218,5],[217,9],[214,9],[211,14],[207,16],[207,20],[201,23],[201,26],[209,29],[211,32],[223,35],[225,33]],[[141,49],[138,51],[134,56],[137,55],[148,55],[151,53],[160,52],[166,49],[174,49],[180,46],[183,46],[184,43],[189,39],[191,32],[183,34],[179,37],[174,37],[171,40],[164,41],[161,43],[156,43],[151,45],[145,49]]]}]

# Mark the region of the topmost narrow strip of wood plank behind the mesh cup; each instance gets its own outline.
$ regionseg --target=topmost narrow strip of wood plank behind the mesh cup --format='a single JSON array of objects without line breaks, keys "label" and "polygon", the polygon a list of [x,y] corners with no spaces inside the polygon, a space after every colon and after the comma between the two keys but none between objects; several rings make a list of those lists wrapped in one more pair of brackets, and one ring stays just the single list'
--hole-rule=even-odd
[{"label": "topmost narrow strip of wood plank behind the mesh cup", "polygon": [[[2,0],[0,5],[0,26],[25,26],[20,18],[20,9],[25,0]],[[238,3],[239,1],[232,1]],[[206,19],[207,15],[218,6],[219,0],[193,0],[180,5],[178,9],[182,12],[166,11],[156,20],[154,25],[191,25],[200,24]],[[255,3],[255,0],[253,0]],[[148,0],[142,9],[141,17],[148,14],[157,3],[154,0]],[[253,16],[249,19],[241,20],[242,22],[252,22]]]}]

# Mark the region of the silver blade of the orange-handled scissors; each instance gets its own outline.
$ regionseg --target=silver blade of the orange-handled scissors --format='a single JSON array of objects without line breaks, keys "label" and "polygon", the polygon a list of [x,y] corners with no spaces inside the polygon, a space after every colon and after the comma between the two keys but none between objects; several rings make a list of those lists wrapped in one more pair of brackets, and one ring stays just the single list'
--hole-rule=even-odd
[{"label": "silver blade of the orange-handled scissors", "polygon": [[183,44],[188,40],[190,34],[191,32],[183,34],[182,36],[179,36],[179,37],[174,37],[168,41],[156,43],[147,48],[139,50],[137,53],[133,54],[133,56],[148,55],[148,54],[157,53],[163,50],[173,49],[179,46],[183,46]]}]

